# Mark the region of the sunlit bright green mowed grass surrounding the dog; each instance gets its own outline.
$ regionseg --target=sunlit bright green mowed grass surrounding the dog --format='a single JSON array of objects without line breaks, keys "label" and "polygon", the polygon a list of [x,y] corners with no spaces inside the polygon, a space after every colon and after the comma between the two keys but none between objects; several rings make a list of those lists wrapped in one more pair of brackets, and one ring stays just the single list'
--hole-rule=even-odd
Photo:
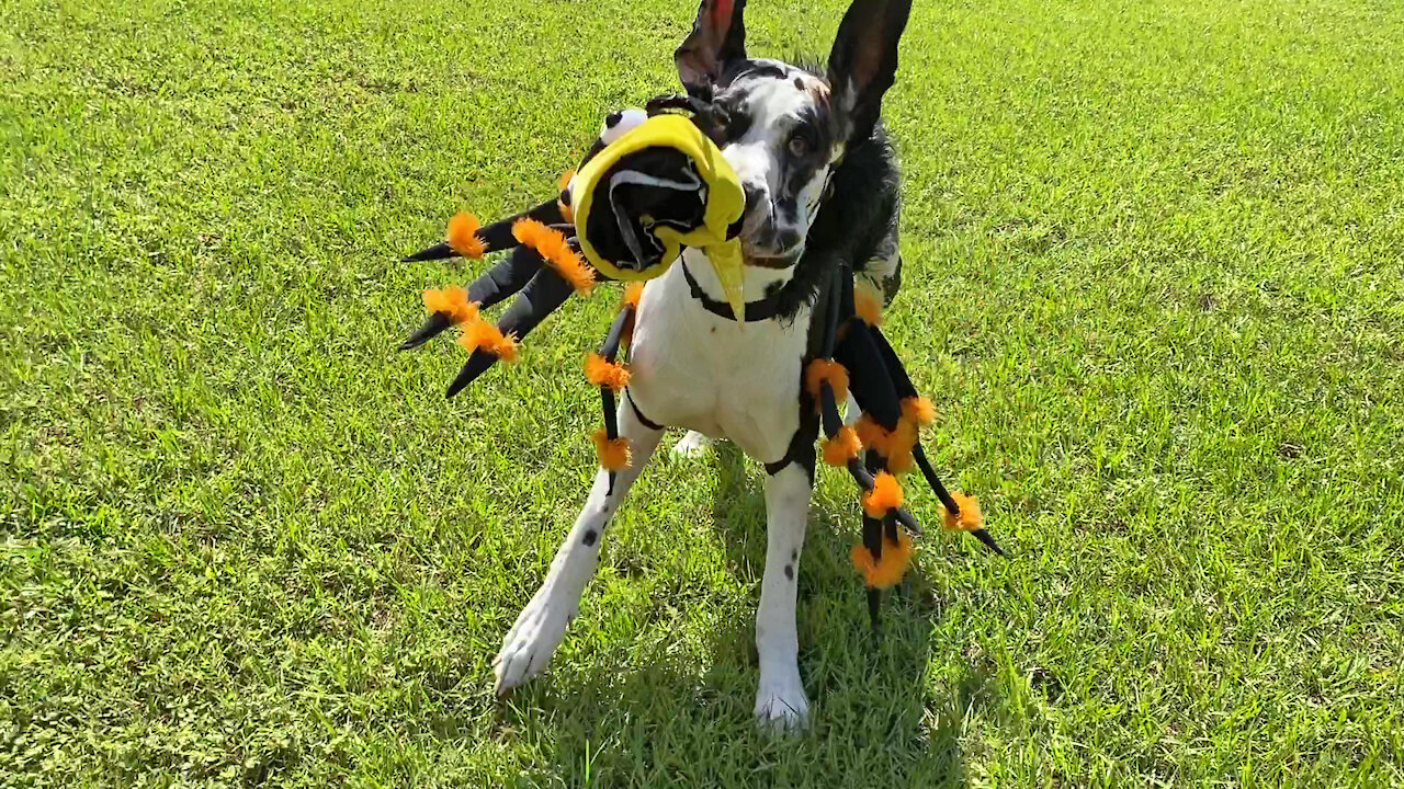
[{"label": "sunlit bright green mowed grass surrounding the dog", "polygon": [[395,347],[469,272],[396,258],[549,195],[694,8],[0,0],[0,783],[1404,783],[1389,1],[918,1],[887,329],[1012,560],[932,529],[875,640],[823,473],[771,740],[762,472],[660,455],[494,699],[615,292],[445,402],[462,351]]}]

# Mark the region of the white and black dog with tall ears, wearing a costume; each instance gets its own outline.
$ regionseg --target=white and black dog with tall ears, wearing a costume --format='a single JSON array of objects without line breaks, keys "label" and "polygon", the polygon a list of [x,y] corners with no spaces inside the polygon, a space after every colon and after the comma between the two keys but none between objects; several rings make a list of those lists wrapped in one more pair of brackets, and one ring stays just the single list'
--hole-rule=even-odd
[{"label": "white and black dog with tall ears, wearing a costume", "polygon": [[[855,0],[820,74],[746,55],[746,0],[703,0],[675,62],[684,86],[724,115],[722,153],[747,192],[741,243],[746,299],[762,320],[730,319],[720,282],[695,250],[643,291],[630,350],[633,378],[619,404],[630,468],[609,487],[601,470],[546,578],[503,640],[497,692],[550,663],[595,571],[611,515],[664,427],[691,432],[680,448],[726,438],[765,463],[767,550],[755,616],[755,715],[792,724],[809,713],[795,630],[795,577],[814,477],[813,407],[800,406],[813,352],[816,293],[834,267],[885,300],[896,293],[900,205],[894,156],[879,125],[893,84],[910,0]],[[848,418],[856,414],[849,400]]]}]

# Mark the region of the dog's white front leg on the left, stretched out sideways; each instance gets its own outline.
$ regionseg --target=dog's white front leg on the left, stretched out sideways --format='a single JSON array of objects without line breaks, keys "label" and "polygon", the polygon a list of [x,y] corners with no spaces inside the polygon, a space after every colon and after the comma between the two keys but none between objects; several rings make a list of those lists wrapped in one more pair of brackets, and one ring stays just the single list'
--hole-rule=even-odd
[{"label": "dog's white front leg on the left, stretched out sideways", "polygon": [[609,525],[609,518],[629,493],[633,480],[639,479],[639,472],[653,456],[663,437],[661,430],[650,430],[639,421],[628,400],[619,403],[618,414],[619,435],[629,439],[633,459],[629,468],[615,477],[614,493],[609,493],[608,472],[601,469],[595,475],[590,500],[566,535],[566,542],[556,550],[546,580],[517,616],[517,623],[503,639],[503,649],[493,660],[498,695],[541,674],[550,663],[560,639],[566,635],[566,626],[580,608],[585,583],[595,573],[605,526]]}]

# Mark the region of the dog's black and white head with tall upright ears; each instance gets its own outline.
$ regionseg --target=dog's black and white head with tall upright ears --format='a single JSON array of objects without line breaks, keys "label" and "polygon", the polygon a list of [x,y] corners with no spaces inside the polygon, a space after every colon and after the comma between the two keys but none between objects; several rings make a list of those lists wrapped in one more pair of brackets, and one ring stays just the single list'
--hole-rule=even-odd
[{"label": "dog's black and white head with tall upright ears", "polygon": [[872,135],[911,0],[854,0],[823,76],[747,58],[744,10],[746,0],[702,0],[674,60],[688,93],[726,114],[720,145],[746,188],[746,261],[786,268],[804,251],[828,174]]}]

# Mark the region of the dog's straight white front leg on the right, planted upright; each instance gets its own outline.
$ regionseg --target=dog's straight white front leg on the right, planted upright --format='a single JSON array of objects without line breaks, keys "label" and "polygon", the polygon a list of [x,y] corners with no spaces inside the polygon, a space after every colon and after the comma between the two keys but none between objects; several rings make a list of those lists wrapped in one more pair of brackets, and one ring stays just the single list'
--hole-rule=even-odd
[{"label": "dog's straight white front leg on the right, planted upright", "polygon": [[[813,446],[810,446],[813,452]],[[765,480],[765,574],[755,614],[755,650],[761,687],[755,716],[762,723],[792,727],[809,716],[799,679],[799,635],[795,632],[795,581],[809,519],[813,455],[809,468],[792,462]]]}]

